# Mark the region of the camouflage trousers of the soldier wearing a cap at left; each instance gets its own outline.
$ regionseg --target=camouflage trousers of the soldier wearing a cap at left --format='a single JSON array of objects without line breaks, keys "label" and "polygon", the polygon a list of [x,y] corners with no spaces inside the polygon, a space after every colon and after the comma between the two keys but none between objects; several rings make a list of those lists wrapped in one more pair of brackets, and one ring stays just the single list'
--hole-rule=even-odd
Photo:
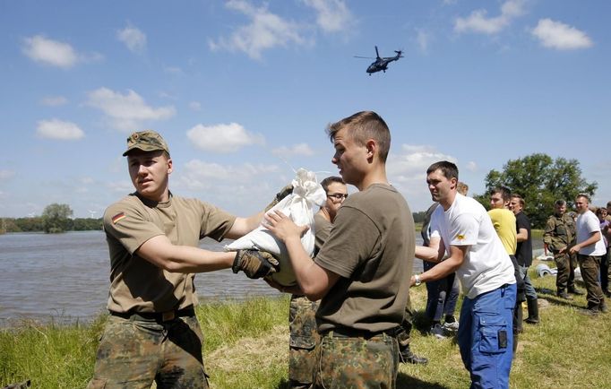
[{"label": "camouflage trousers of the soldier wearing a cap at left", "polygon": [[109,316],[88,389],[208,388],[195,316],[153,320]]}]

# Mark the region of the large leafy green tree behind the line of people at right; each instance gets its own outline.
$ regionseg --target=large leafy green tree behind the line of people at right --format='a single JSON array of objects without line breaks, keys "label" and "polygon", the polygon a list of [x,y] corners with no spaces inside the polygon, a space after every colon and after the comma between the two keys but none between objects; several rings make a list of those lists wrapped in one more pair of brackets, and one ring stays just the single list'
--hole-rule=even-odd
[{"label": "large leafy green tree behind the line of people at right", "polygon": [[509,160],[503,171],[490,170],[486,175],[486,193],[474,196],[486,209],[489,195],[495,186],[507,186],[513,193],[524,198],[524,212],[529,216],[533,228],[545,226],[547,217],[554,212],[554,202],[564,199],[572,206],[580,193],[591,197],[598,188],[581,177],[578,160],[552,158],[535,153],[518,160]]}]

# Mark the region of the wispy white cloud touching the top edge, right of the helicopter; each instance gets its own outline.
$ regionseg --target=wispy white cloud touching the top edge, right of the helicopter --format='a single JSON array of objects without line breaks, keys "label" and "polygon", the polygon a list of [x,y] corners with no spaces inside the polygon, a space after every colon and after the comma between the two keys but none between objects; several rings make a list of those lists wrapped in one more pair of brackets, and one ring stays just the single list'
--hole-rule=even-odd
[{"label": "wispy white cloud touching the top edge, right of the helicopter", "polygon": [[525,0],[507,0],[501,5],[501,14],[496,17],[486,17],[484,9],[473,11],[467,18],[456,18],[456,32],[481,32],[495,34],[507,27],[512,19],[524,13]]}]

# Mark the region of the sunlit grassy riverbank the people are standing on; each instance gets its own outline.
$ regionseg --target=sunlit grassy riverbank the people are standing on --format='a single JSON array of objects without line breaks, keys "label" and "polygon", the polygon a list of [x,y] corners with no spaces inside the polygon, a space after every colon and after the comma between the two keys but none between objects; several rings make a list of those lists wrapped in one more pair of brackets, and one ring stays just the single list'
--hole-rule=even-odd
[{"label": "sunlit grassy riverbank the people are standing on", "polygon": [[[531,270],[534,269],[534,265]],[[585,298],[555,298],[555,278],[531,273],[540,298],[542,323],[524,324],[512,367],[512,388],[611,387],[611,314],[582,316]],[[414,307],[426,301],[412,288]],[[288,297],[208,303],[197,310],[205,335],[205,363],[212,388],[288,388]],[[526,313],[525,313],[526,316]],[[83,388],[93,371],[105,316],[87,325],[23,322],[0,330],[0,387],[31,379],[35,388]],[[412,333],[413,349],[426,366],[402,365],[399,388],[465,388],[469,376],[452,339],[426,336],[422,315]]]}]

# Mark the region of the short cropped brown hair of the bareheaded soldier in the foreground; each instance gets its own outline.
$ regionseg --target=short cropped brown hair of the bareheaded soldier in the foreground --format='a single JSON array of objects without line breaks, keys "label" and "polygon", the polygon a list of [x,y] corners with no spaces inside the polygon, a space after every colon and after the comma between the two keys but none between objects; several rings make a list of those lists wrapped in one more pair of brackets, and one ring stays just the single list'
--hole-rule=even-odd
[{"label": "short cropped brown hair of the bareheaded soldier in the foreground", "polygon": [[331,123],[327,126],[331,142],[335,140],[335,134],[344,128],[349,128],[350,139],[357,144],[364,145],[369,139],[373,139],[378,144],[380,160],[386,162],[388,151],[391,150],[391,131],[382,117],[373,111],[361,111]]}]

